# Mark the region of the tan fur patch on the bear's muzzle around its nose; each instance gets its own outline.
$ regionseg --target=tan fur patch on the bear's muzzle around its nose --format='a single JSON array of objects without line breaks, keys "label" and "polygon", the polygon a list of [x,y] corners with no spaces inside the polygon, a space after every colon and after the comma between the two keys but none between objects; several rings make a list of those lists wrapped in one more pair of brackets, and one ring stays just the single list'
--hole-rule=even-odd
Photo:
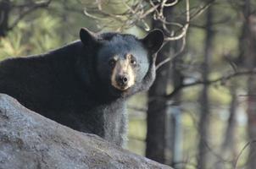
[{"label": "tan fur patch on the bear's muzzle around its nose", "polygon": [[[127,55],[125,60],[118,60],[113,68],[113,72],[111,75],[111,85],[113,85],[118,90],[127,90],[135,84],[136,74],[134,73],[130,62],[131,57]],[[116,77],[122,74],[128,75],[128,82],[125,86],[120,86],[116,81]]]}]

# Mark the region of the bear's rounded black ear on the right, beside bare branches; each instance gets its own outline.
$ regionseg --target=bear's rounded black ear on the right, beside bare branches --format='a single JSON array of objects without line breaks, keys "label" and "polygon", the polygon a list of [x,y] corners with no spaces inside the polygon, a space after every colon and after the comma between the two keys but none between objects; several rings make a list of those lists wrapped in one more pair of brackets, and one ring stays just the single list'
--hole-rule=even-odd
[{"label": "bear's rounded black ear on the right, beside bare branches", "polygon": [[142,39],[142,43],[152,54],[158,52],[164,42],[164,33],[162,30],[151,30],[146,37]]}]

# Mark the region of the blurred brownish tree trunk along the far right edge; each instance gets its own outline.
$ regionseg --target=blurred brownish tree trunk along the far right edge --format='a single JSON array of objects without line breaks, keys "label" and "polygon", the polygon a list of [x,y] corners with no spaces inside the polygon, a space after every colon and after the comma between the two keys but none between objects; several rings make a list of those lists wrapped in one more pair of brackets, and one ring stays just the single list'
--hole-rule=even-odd
[{"label": "blurred brownish tree trunk along the far right edge", "polygon": [[[242,5],[244,23],[240,40],[241,58],[244,60],[243,66],[248,69],[256,67],[256,15],[252,14],[251,1],[245,0]],[[248,169],[256,166],[256,77],[251,75],[248,78],[248,140],[249,155]]]}]

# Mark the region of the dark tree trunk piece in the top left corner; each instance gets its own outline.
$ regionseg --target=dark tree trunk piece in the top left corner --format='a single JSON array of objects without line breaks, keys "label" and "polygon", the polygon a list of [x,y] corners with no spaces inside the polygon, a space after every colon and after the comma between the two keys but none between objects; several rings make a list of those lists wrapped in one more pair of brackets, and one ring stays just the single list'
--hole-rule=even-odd
[{"label": "dark tree trunk piece in the top left corner", "polygon": [[8,32],[8,15],[11,4],[9,0],[0,1],[0,37],[3,37]]}]

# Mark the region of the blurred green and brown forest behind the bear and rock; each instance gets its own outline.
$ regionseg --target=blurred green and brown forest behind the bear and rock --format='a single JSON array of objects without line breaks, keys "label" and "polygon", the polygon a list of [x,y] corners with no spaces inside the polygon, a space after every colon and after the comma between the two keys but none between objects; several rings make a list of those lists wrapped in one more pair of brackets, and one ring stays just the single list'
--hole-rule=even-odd
[{"label": "blurred green and brown forest behind the bear and rock", "polygon": [[256,0],[0,0],[0,59],[81,27],[164,31],[157,79],[129,101],[127,149],[175,168],[256,168]]}]

